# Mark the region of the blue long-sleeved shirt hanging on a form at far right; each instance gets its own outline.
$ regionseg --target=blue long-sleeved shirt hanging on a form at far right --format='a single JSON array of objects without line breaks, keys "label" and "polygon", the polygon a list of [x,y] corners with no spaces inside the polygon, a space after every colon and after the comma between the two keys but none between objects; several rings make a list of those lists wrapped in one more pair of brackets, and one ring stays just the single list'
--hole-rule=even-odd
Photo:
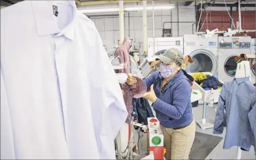
[{"label": "blue long-sleeved shirt hanging on a form at far right", "polygon": [[234,78],[222,86],[216,110],[214,134],[222,134],[224,109],[227,114],[227,130],[223,149],[240,146],[249,151],[255,145],[248,114],[255,105],[255,87],[249,77]]}]

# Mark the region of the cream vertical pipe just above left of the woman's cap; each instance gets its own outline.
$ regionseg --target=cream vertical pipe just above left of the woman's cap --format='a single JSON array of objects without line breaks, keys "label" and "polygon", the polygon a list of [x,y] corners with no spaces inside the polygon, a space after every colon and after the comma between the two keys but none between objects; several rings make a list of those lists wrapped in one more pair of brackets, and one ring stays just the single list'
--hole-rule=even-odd
[{"label": "cream vertical pipe just above left of the woman's cap", "polygon": [[142,19],[143,19],[143,50],[144,56],[147,55],[147,1],[142,1]]}]

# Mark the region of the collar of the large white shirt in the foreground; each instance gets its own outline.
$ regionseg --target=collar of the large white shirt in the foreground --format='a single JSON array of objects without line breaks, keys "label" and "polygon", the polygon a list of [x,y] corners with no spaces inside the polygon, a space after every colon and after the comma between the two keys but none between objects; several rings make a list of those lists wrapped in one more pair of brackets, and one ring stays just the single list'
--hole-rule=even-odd
[{"label": "collar of the large white shirt in the foreground", "polygon": [[56,36],[65,35],[69,39],[74,39],[74,20],[77,7],[73,0],[67,2],[73,6],[73,21],[60,31],[48,1],[31,1],[38,36],[57,34]]}]

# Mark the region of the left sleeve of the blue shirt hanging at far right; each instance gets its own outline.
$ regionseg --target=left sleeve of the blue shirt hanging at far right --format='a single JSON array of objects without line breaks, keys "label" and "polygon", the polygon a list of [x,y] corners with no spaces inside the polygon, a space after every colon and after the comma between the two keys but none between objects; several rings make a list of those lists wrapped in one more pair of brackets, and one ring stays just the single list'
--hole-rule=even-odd
[{"label": "left sleeve of the blue shirt hanging at far right", "polygon": [[222,86],[218,106],[216,110],[216,116],[213,127],[213,134],[223,133],[223,122],[224,122],[224,109],[225,109],[225,84]]}]

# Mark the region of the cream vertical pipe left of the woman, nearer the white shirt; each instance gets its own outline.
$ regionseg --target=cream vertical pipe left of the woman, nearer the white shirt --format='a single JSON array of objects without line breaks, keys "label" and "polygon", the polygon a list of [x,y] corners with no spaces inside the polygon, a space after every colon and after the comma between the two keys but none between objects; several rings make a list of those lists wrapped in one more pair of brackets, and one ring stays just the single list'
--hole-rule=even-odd
[{"label": "cream vertical pipe left of the woman, nearer the white shirt", "polygon": [[124,1],[119,0],[119,34],[120,44],[124,41]]}]

